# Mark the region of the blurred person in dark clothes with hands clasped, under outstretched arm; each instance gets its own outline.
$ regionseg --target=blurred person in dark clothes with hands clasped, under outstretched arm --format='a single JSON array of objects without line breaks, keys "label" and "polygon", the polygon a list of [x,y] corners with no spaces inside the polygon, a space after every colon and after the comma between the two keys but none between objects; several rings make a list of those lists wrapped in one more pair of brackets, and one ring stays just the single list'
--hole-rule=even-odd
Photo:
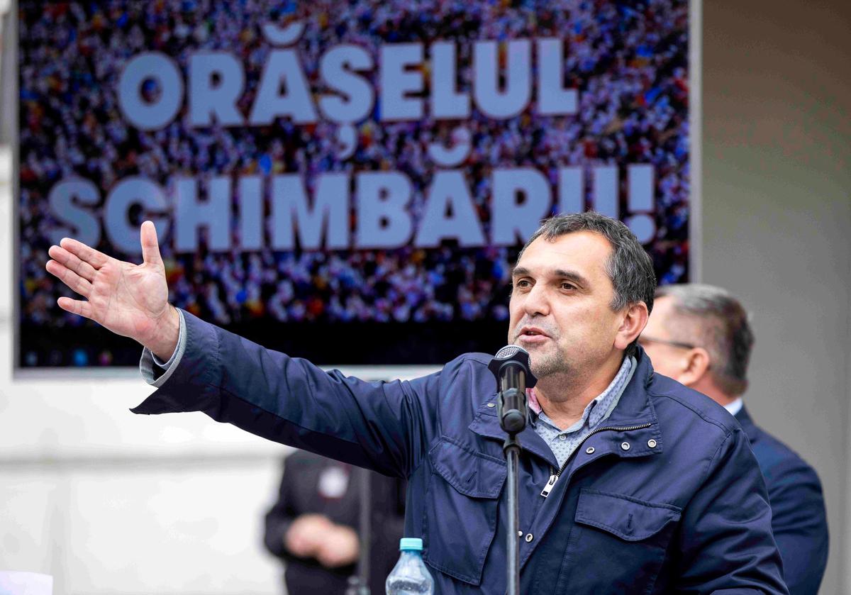
[{"label": "blurred person in dark clothes with hands clasped, under outstretched arm", "polygon": [[277,502],[266,514],[266,549],[285,563],[290,595],[343,595],[357,573],[361,483],[370,485],[369,590],[384,592],[405,522],[401,479],[296,451],[284,461]]}]

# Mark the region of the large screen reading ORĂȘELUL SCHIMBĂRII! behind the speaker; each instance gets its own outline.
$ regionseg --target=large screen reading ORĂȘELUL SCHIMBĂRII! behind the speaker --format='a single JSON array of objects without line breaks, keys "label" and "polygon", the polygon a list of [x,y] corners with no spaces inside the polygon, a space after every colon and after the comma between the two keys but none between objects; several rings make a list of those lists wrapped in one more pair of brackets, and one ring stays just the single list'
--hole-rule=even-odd
[{"label": "large screen reading OR\u0102\u0218ELUL SCHIMB\u0102RII! behind the speaker", "polygon": [[322,364],[505,343],[517,250],[624,220],[689,276],[688,2],[19,3],[18,365],[135,365],[55,305],[77,237]]}]

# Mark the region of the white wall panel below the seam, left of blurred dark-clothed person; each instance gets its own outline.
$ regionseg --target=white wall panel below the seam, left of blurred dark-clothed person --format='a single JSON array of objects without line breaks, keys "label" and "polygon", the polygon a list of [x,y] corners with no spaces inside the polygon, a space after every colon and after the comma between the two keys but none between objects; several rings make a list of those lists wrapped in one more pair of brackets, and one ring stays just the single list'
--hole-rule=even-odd
[{"label": "white wall panel below the seam, left of blurred dark-clothed person", "polygon": [[210,459],[76,472],[66,592],[279,592],[279,565],[261,541],[279,470]]}]

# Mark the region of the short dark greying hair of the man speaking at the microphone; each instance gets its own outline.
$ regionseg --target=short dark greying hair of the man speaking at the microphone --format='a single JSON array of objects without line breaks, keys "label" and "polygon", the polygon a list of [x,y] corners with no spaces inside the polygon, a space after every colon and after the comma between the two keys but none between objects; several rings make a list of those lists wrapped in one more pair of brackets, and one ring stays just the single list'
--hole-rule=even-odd
[{"label": "short dark greying hair of the man speaking at the microphone", "polygon": [[[537,232],[517,255],[517,261],[523,256],[530,243],[539,237],[553,242],[557,237],[573,232],[599,233],[612,245],[612,255],[606,263],[606,273],[614,285],[614,298],[609,304],[614,312],[623,310],[626,306],[643,301],[647,311],[653,310],[656,275],[653,270],[653,260],[643,249],[637,237],[630,228],[622,222],[593,211],[556,215],[543,221]],[[637,340],[626,347],[626,354],[635,352]]]}]

